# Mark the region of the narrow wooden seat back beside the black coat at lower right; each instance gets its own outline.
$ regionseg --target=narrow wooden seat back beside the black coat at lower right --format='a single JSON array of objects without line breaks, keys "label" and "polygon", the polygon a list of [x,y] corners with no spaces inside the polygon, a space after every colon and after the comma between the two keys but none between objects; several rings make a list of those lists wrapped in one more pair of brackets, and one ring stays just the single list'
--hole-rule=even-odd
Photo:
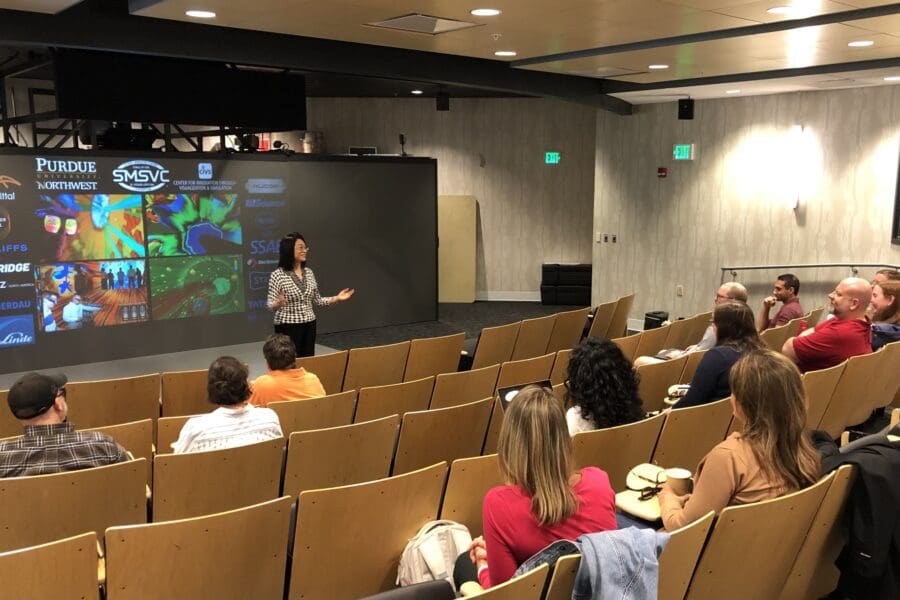
[{"label": "narrow wooden seat back beside the black coat at lower right", "polygon": [[834,481],[794,559],[781,600],[824,598],[837,587],[840,571],[834,563],[844,547],[841,517],[856,480],[855,469],[843,465],[835,471]]}]

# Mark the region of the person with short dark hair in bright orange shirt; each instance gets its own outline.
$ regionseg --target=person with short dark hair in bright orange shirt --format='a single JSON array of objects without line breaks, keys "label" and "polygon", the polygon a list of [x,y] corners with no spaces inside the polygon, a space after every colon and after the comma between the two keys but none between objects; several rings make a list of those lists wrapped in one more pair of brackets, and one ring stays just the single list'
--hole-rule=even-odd
[{"label": "person with short dark hair in bright orange shirt", "polygon": [[260,375],[250,385],[250,402],[256,406],[267,406],[269,402],[301,400],[325,395],[322,382],[303,367],[297,367],[297,350],[288,336],[276,333],[270,335],[263,345],[263,356],[269,372]]}]

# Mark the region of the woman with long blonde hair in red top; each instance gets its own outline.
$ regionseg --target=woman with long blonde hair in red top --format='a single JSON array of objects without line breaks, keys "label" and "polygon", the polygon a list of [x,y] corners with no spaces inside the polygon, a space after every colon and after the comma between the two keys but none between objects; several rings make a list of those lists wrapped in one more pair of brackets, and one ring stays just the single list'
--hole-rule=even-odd
[{"label": "woman with long blonde hair in red top", "polygon": [[609,476],[597,467],[575,470],[565,413],[551,391],[528,386],[516,396],[498,454],[508,485],[485,496],[484,537],[469,553],[482,587],[503,583],[551,542],[616,529]]}]

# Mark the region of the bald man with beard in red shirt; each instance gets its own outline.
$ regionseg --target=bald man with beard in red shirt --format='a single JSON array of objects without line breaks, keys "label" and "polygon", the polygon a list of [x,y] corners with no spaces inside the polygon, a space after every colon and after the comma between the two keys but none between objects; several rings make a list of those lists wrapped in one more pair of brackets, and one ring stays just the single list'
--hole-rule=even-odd
[{"label": "bald man with beard in red shirt", "polygon": [[869,282],[848,277],[828,294],[833,319],[826,319],[797,337],[788,338],[781,352],[801,371],[833,367],[851,356],[872,352],[872,328],[866,309],[872,297]]}]

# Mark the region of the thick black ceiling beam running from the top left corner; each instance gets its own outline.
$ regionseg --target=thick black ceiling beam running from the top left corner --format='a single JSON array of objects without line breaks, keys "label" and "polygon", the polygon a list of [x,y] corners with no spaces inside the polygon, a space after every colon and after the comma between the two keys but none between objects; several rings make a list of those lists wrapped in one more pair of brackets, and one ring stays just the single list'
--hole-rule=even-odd
[{"label": "thick black ceiling beam running from the top left corner", "polygon": [[[122,8],[124,7],[124,9]],[[601,81],[513,69],[509,63],[129,15],[126,4],[82,2],[58,15],[0,10],[0,40],[194,58],[484,88],[559,98],[631,114]]]}]

